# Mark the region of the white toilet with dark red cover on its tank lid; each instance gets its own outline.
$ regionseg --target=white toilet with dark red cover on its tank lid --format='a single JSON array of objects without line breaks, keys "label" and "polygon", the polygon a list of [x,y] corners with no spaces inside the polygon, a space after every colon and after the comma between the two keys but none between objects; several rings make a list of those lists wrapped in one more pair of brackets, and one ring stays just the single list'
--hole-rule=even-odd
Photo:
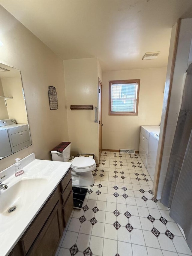
[{"label": "white toilet with dark red cover on its tank lid", "polygon": [[62,142],[51,151],[53,161],[72,162],[71,176],[73,186],[87,187],[95,183],[92,171],[96,169],[95,160],[81,156],[70,160],[70,142]]}]

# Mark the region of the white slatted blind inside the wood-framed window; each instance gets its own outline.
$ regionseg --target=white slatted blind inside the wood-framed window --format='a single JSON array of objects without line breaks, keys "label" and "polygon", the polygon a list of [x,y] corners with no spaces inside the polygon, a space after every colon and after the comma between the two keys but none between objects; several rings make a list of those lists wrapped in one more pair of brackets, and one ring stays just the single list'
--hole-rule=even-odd
[{"label": "white slatted blind inside the wood-framed window", "polygon": [[137,83],[111,85],[111,112],[136,112]]}]

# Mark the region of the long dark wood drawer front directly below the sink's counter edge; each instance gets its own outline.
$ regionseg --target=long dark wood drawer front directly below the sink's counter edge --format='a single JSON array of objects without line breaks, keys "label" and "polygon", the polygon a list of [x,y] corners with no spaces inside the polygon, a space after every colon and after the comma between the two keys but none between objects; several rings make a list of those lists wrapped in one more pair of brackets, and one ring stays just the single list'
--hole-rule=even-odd
[{"label": "long dark wood drawer front directly below the sink's counter edge", "polygon": [[35,220],[32,222],[32,224],[29,226],[26,233],[20,240],[24,255],[26,255],[26,253],[29,251],[29,248],[32,246],[34,240],[38,236],[38,233],[40,232],[41,228],[43,227],[45,221],[49,217],[52,209],[54,208],[58,200],[59,194],[58,188],[56,188],[52,196],[49,197],[47,203],[45,203],[43,209],[41,209],[41,212],[37,215]]}]

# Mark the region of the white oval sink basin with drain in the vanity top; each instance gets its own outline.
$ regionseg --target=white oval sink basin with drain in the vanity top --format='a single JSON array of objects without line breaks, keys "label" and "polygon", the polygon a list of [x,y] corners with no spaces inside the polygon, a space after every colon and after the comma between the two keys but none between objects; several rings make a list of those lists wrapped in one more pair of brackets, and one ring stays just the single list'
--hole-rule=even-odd
[{"label": "white oval sink basin with drain in the vanity top", "polygon": [[[7,216],[12,215],[13,212],[8,213],[8,209],[12,206],[16,206],[14,214],[22,209],[26,210],[41,194],[42,187],[46,183],[47,179],[45,178],[21,179],[12,186],[8,186],[6,190],[1,190],[0,213]],[[26,193],[26,191],[29,193]]]}]

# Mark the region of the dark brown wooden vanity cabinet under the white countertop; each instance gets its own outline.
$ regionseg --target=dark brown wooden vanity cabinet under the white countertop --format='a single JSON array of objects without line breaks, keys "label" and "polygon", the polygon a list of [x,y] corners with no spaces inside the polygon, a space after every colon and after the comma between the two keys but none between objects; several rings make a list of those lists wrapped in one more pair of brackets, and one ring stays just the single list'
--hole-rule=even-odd
[{"label": "dark brown wooden vanity cabinet under the white countertop", "polygon": [[9,256],[54,255],[72,210],[72,181],[68,170]]}]

